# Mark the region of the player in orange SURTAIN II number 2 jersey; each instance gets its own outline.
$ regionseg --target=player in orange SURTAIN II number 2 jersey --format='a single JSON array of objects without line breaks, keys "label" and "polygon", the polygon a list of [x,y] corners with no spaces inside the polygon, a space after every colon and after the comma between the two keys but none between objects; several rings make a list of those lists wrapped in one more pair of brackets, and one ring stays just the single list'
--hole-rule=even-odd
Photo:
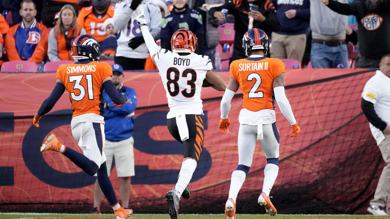
[{"label": "player in orange SURTAIN II number 2 jersey", "polygon": [[225,204],[225,219],[236,219],[237,194],[252,164],[256,140],[259,140],[267,158],[258,203],[264,205],[267,214],[277,214],[269,200],[269,192],[279,171],[279,131],[275,123],[275,99],[293,128],[291,137],[296,137],[300,132],[284,93],[284,63],[277,58],[264,57],[268,51],[267,34],[257,28],[248,30],[243,37],[243,49],[247,58],[230,64],[230,81],[222,97],[218,125],[222,134],[229,133],[230,102],[238,87],[241,87],[243,105],[238,117],[238,168],[232,173],[229,198]]}]

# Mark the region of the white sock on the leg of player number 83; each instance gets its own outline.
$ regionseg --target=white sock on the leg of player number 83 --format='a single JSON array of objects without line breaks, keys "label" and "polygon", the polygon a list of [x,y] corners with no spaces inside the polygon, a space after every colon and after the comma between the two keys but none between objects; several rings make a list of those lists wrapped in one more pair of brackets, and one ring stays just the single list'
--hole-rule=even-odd
[{"label": "white sock on the leg of player number 83", "polygon": [[177,191],[177,197],[180,198],[181,193],[183,193],[184,189],[190,183],[192,178],[192,174],[196,169],[197,162],[193,159],[186,159],[181,164],[181,169],[179,173],[179,178],[177,179],[177,183],[175,185],[175,189]]}]

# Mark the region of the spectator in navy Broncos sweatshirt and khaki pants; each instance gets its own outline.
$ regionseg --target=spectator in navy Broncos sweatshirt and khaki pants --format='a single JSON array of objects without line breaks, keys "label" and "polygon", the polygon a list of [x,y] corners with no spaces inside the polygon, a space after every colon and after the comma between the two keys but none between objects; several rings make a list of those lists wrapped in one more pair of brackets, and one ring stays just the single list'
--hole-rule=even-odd
[{"label": "spectator in navy Broncos sweatshirt and khaki pants", "polygon": [[273,0],[280,30],[272,32],[271,58],[289,58],[302,62],[306,30],[310,25],[310,0]]}]

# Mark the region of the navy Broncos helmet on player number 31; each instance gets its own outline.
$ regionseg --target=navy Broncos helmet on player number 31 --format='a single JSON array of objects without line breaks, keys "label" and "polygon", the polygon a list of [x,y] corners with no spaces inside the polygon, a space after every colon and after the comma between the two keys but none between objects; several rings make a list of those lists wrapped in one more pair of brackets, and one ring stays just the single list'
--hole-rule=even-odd
[{"label": "navy Broncos helmet on player number 31", "polygon": [[100,45],[89,34],[83,34],[74,38],[72,42],[72,57],[75,60],[89,59],[99,62],[101,57]]}]

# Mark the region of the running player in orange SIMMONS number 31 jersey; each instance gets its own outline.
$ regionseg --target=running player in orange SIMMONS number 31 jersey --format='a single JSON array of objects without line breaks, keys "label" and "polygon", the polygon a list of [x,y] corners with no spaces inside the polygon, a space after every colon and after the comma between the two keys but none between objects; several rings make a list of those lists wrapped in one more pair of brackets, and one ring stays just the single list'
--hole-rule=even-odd
[{"label": "running player in orange SIMMONS number 31 jersey", "polygon": [[107,174],[106,155],[103,152],[105,142],[103,89],[116,107],[123,106],[128,97],[119,94],[112,83],[111,66],[106,62],[99,62],[100,46],[94,37],[88,34],[76,37],[71,49],[73,59],[79,61],[58,68],[55,88],[43,101],[32,123],[39,127],[39,119],[53,108],[66,89],[73,109],[71,121],[73,138],[78,142],[83,154],[65,147],[53,134],[43,143],[41,152],[46,150],[60,152],[89,175],[97,173],[97,181],[114,210],[115,218],[124,219],[133,214],[133,210],[123,209],[119,205]]}]

